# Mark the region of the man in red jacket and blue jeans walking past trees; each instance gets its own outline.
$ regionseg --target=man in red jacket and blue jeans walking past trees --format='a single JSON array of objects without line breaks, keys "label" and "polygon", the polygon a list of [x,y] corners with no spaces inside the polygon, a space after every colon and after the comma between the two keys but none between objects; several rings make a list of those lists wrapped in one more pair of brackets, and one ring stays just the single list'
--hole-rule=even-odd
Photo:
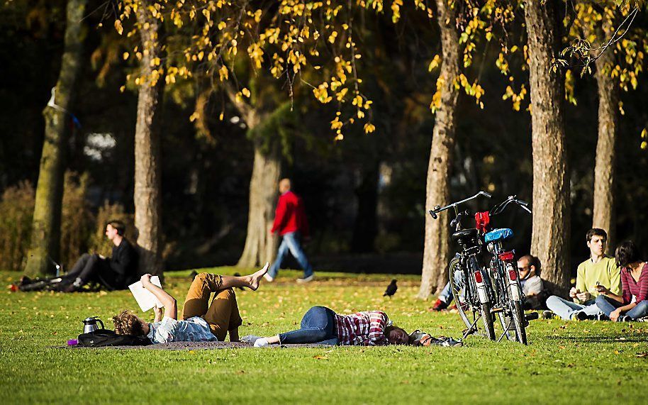
[{"label": "man in red jacket and blue jeans walking past trees", "polygon": [[291,192],[290,179],[281,179],[279,182],[279,201],[276,203],[274,223],[270,233],[278,232],[281,235],[281,245],[276,253],[276,260],[264,275],[268,282],[272,282],[279,274],[281,262],[290,251],[303,269],[303,278],[297,279],[298,283],[313,281],[313,267],[308,262],[306,254],[301,249],[301,238],[308,238],[308,221],[304,211],[302,199]]}]

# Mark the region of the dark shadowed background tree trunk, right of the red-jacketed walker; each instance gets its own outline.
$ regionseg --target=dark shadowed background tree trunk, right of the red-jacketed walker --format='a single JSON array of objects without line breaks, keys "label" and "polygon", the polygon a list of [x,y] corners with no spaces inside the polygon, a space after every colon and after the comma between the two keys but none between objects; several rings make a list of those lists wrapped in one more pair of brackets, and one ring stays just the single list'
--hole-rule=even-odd
[{"label": "dark shadowed background tree trunk, right of the red-jacketed walker", "polygon": [[380,162],[368,163],[362,170],[362,179],[355,190],[358,199],[358,210],[353,226],[351,250],[354,253],[374,251],[374,242],[378,234],[378,177]]}]

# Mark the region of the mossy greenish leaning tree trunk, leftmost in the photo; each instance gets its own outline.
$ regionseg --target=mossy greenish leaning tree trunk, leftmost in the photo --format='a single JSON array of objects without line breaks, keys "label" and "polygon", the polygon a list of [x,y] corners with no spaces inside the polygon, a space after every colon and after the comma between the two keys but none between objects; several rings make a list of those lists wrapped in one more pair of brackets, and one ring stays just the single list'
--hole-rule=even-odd
[{"label": "mossy greenish leaning tree trunk, leftmost in the photo", "polygon": [[55,96],[51,106],[45,107],[45,140],[40,157],[40,172],[36,187],[34,216],[30,248],[25,273],[29,276],[44,275],[51,268],[48,256],[59,260],[61,235],[61,206],[63,199],[63,175],[65,172],[65,148],[70,122],[67,111],[72,106],[74,86],[82,62],[82,18],[86,0],[67,2],[67,26],[65,27],[65,50],[61,62]]}]

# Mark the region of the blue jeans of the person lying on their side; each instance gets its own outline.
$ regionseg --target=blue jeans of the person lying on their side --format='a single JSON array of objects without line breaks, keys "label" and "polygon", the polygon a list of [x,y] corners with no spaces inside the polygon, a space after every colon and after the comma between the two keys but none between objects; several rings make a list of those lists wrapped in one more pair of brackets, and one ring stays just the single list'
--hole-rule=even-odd
[{"label": "blue jeans of the person lying on their side", "polygon": [[335,312],[325,306],[313,306],[301,318],[300,329],[279,334],[279,343],[337,345]]}]

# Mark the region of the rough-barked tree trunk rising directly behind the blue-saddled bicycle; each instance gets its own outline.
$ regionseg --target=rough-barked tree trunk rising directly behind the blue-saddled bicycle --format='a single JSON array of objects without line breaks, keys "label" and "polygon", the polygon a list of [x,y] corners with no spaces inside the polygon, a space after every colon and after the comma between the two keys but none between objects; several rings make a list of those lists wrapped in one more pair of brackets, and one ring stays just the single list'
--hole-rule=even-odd
[{"label": "rough-barked tree trunk rising directly behind the blue-saddled bicycle", "polygon": [[566,168],[562,74],[551,69],[558,57],[557,0],[527,0],[525,21],[533,148],[533,231],[531,252],[540,258],[542,278],[554,292],[569,287],[569,179]]}]

